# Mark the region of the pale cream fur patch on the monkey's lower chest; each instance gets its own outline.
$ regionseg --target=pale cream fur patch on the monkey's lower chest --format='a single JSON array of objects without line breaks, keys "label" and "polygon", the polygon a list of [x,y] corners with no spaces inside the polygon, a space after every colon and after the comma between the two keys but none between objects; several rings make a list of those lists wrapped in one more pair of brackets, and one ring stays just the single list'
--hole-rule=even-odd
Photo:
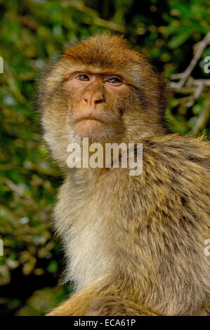
[{"label": "pale cream fur patch on the monkey's lower chest", "polygon": [[83,216],[72,225],[68,242],[68,276],[78,289],[112,269],[107,224],[103,217],[94,213],[81,211]]}]

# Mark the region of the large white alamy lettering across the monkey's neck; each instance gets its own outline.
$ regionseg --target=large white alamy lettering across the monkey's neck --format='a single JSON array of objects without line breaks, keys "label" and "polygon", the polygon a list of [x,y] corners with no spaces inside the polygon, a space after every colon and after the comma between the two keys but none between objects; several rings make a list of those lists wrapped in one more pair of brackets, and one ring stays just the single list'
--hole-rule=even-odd
[{"label": "large white alamy lettering across the monkey's neck", "polygon": [[122,167],[122,169],[129,168],[130,176],[140,176],[143,170],[142,143],[105,143],[105,145],[91,143],[89,145],[88,138],[83,138],[82,147],[79,143],[70,143],[67,146],[67,152],[70,152],[67,157],[67,166],[70,169]]}]

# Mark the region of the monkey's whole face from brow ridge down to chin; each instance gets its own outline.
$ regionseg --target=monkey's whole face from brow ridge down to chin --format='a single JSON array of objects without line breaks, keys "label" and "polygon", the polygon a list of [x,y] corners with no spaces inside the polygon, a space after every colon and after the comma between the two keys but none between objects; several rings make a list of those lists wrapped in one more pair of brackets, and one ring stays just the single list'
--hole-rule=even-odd
[{"label": "monkey's whole face from brow ridge down to chin", "polygon": [[126,79],[116,72],[77,70],[63,84],[69,95],[68,122],[74,135],[98,142],[118,140],[124,133],[122,112],[132,95]]}]

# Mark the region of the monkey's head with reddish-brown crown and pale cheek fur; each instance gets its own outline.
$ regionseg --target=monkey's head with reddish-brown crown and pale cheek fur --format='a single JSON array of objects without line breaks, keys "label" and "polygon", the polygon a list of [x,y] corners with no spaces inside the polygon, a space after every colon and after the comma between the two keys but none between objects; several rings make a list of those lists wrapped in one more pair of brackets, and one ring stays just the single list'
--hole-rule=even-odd
[{"label": "monkey's head with reddish-brown crown and pale cheek fur", "polygon": [[122,37],[102,34],[66,49],[41,79],[44,137],[64,161],[71,142],[140,143],[162,131],[164,83]]}]

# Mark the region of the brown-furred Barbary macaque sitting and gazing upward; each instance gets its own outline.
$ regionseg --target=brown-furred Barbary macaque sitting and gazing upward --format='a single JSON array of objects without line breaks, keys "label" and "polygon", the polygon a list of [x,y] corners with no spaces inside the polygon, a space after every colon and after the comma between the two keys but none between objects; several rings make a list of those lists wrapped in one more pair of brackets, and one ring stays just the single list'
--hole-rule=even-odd
[{"label": "brown-furred Barbary macaque sitting and gazing upward", "polygon": [[[43,75],[39,110],[65,173],[53,225],[74,283],[47,315],[209,315],[209,143],[168,130],[166,84],[150,62],[122,36],[88,37]],[[84,138],[141,143],[142,173],[70,169],[67,145]]]}]

